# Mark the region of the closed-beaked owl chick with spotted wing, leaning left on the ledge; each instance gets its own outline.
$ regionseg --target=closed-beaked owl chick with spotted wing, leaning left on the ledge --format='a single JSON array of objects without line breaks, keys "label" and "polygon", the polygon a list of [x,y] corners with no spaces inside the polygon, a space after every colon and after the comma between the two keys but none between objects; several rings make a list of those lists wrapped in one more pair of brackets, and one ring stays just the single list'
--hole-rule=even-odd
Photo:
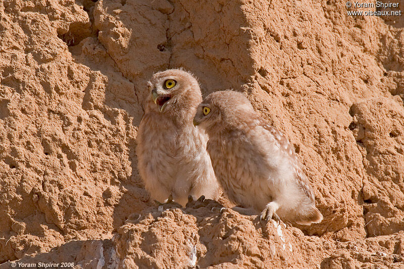
[{"label": "closed-beaked owl chick with spotted wing, leaning left on the ledge", "polygon": [[278,216],[302,225],[323,220],[293,147],[242,93],[211,93],[193,122],[209,135],[217,180],[232,202],[261,212],[267,221]]}]

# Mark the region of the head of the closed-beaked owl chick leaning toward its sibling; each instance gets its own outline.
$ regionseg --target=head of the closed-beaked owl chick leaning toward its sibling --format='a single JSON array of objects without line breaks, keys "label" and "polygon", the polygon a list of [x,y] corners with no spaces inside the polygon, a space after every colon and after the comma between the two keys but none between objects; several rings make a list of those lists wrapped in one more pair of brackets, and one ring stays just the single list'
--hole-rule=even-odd
[{"label": "head of the closed-beaked owl chick leaning toward its sibling", "polygon": [[251,103],[241,92],[231,90],[209,94],[197,107],[193,125],[205,130],[237,127],[248,118],[256,118]]}]

